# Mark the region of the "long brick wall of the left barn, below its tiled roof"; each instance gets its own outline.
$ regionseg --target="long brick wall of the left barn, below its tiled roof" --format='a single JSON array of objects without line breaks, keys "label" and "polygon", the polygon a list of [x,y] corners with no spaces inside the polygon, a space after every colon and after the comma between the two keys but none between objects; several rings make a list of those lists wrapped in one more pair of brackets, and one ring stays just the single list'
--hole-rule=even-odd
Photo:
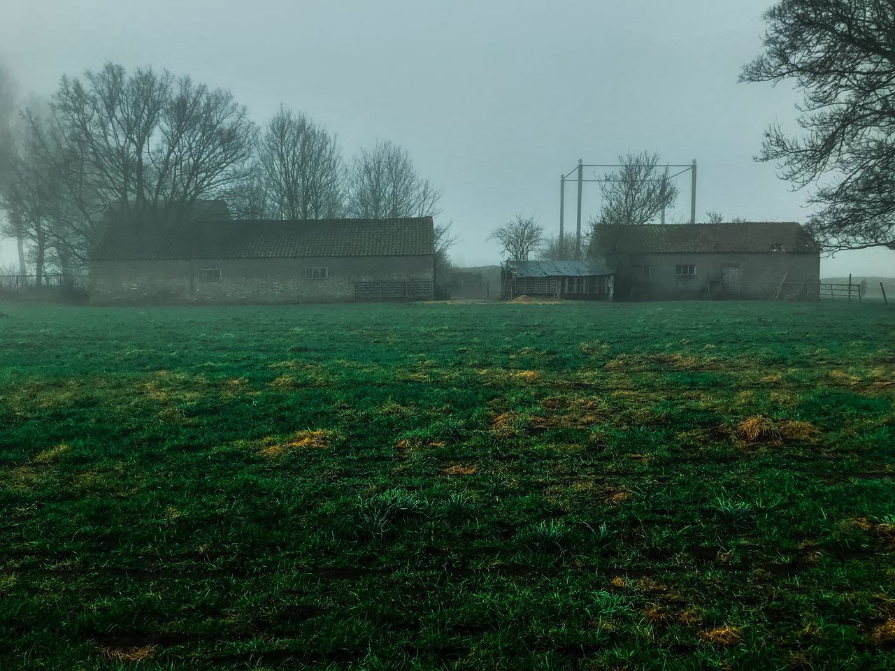
[{"label": "long brick wall of the left barn, below its tiled roof", "polygon": [[[328,278],[306,279],[305,268],[328,268]],[[220,270],[220,281],[200,270]],[[431,256],[94,261],[90,303],[345,302],[357,281],[433,279]]]}]

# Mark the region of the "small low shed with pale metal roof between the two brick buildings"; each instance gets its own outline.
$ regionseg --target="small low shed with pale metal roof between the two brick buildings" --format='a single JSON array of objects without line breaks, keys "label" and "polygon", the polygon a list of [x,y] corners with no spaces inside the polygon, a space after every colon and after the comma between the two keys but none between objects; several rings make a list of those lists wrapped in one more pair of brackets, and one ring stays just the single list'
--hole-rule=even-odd
[{"label": "small low shed with pale metal roof between the two brick buildings", "polygon": [[541,296],[591,301],[612,299],[612,270],[598,261],[507,261],[500,296]]}]

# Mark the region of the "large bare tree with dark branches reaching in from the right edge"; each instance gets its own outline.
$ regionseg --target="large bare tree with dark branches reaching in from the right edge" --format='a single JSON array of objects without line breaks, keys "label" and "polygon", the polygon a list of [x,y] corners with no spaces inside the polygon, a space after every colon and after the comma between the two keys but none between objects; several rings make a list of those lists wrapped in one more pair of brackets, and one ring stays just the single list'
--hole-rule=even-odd
[{"label": "large bare tree with dark branches reaching in from the right edge", "polygon": [[830,251],[895,249],[895,4],[784,0],[764,14],[765,53],[740,81],[794,81],[803,134],[764,133],[760,161],[810,187],[808,225]]}]

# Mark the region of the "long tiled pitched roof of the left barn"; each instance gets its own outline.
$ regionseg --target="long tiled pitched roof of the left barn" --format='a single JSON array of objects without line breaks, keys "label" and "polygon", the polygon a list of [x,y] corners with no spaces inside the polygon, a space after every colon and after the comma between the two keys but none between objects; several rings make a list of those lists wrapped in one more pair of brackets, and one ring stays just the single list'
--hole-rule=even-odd
[{"label": "long tiled pitched roof of the left barn", "polygon": [[435,253],[432,217],[110,225],[93,260],[273,259]]}]

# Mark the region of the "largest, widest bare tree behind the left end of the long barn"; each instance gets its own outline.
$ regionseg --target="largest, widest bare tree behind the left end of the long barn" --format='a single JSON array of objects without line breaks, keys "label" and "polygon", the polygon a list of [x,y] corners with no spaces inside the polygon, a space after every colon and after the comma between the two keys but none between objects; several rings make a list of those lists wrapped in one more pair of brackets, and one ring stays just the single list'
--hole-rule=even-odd
[{"label": "largest, widest bare tree behind the left end of the long barn", "polygon": [[79,264],[110,211],[176,218],[225,194],[244,179],[256,133],[226,90],[115,64],[64,77],[47,122],[27,118],[61,185],[56,236]]}]

